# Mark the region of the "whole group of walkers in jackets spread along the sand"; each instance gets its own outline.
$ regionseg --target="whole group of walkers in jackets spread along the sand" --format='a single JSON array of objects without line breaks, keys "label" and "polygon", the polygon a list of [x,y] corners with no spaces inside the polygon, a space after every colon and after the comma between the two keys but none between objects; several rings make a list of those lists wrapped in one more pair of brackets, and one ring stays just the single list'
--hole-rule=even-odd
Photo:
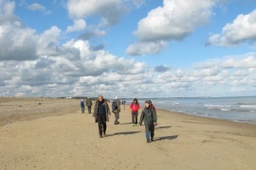
[{"label": "whole group of walkers in jackets spread along the sand", "polygon": [[[86,99],[86,101],[87,101],[87,99]],[[84,103],[84,99],[82,101]],[[87,105],[86,101],[85,101],[85,103]],[[121,103],[119,101],[119,97],[116,96],[115,100],[113,100],[112,106],[111,106],[112,112],[115,114],[115,122],[114,122],[115,125],[119,125],[119,112],[120,112],[121,104],[125,105],[125,103],[123,103],[123,102]],[[91,104],[90,104],[90,106],[91,106]],[[125,109],[125,106],[123,109]],[[130,109],[131,109],[131,113],[132,113],[133,126],[134,127],[137,126],[137,123],[139,126],[142,126],[142,122],[144,122],[146,141],[147,141],[147,143],[153,142],[154,135],[155,135],[155,126],[156,126],[157,116],[156,116],[155,107],[153,106],[151,100],[145,101],[145,107],[141,111],[139,122],[137,121],[137,116],[138,116],[138,110],[140,109],[140,105],[137,101],[137,98],[135,98],[133,100],[133,102],[130,104]],[[83,112],[84,112],[84,109],[82,110],[82,113]],[[91,112],[91,111],[89,111],[89,108],[88,108],[88,112],[89,113]],[[98,96],[98,99],[95,102],[95,107],[94,107],[94,111],[93,111],[93,117],[95,117],[95,123],[98,123],[100,138],[106,136],[106,127],[107,127],[106,122],[109,122],[110,115],[111,115],[111,110],[108,105],[108,100],[104,99],[103,96],[100,94]]]}]

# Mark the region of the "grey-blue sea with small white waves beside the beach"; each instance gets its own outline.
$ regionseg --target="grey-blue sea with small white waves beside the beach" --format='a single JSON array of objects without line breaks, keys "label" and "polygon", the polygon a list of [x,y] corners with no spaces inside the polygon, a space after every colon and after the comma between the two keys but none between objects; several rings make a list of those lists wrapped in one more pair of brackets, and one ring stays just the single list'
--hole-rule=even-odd
[{"label": "grey-blue sea with small white waves beside the beach", "polygon": [[[138,99],[141,106],[145,99]],[[150,98],[156,109],[256,125],[256,96]],[[129,103],[129,102],[128,102]]]}]

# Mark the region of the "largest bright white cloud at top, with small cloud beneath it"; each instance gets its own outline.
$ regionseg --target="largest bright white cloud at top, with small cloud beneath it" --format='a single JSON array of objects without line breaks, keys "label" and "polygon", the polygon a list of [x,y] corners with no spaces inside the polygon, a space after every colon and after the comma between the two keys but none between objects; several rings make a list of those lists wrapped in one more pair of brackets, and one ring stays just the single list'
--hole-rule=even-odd
[{"label": "largest bright white cloud at top, with small cloud beneath it", "polygon": [[[127,53],[129,55],[155,53],[165,45],[157,50],[152,48],[151,51],[140,47],[146,46],[143,43],[182,40],[196,27],[203,26],[209,21],[212,14],[211,8],[214,5],[214,0],[164,0],[163,7],[151,10],[146,18],[138,22],[135,32],[138,42],[130,45]],[[139,51],[136,51],[138,49]]]}]

